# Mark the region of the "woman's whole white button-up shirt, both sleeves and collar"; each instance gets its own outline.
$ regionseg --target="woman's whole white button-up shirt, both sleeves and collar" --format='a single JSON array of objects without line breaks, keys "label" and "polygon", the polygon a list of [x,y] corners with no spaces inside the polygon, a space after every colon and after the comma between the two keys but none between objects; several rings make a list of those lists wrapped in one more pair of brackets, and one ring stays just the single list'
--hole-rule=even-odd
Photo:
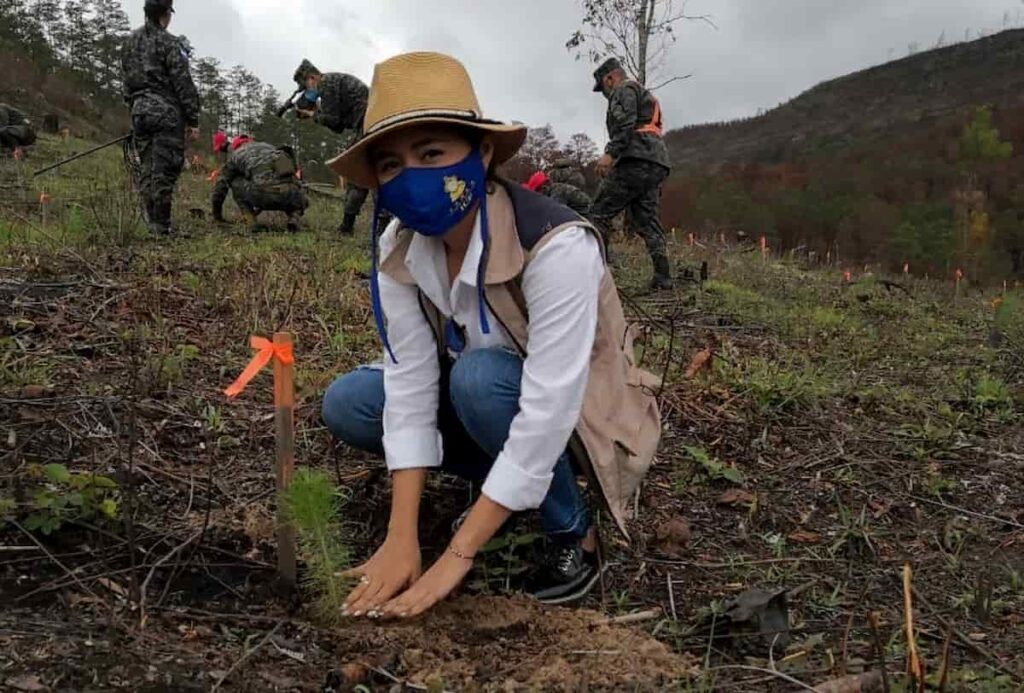
[{"label": "woman's whole white button-up shirt, both sleeves and collar", "polygon": [[[397,244],[398,222],[381,236],[381,257]],[[406,256],[417,286],[441,312],[465,330],[465,351],[514,349],[488,311],[490,334],[480,329],[476,288],[483,243],[477,216],[473,235],[454,283],[449,280],[443,241],[417,234]],[[604,262],[597,240],[569,228],[541,248],[526,265],[522,293],[529,314],[519,414],[483,484],[495,503],[522,511],[540,507],[555,463],[580,419],[597,331],[598,290]],[[439,467],[437,430],[440,365],[433,330],[420,309],[417,287],[380,275],[381,305],[397,363],[384,357],[384,451],[388,469]]]}]

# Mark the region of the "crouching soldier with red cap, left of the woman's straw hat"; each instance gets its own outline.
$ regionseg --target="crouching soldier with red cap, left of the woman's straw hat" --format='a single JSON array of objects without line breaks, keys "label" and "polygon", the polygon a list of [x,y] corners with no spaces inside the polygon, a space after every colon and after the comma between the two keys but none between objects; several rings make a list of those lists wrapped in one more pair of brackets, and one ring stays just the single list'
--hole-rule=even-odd
[{"label": "crouching soldier with red cap, left of the woman's straw hat", "polygon": [[[220,153],[227,151],[226,138],[218,144]],[[299,230],[299,217],[308,202],[295,175],[298,165],[291,147],[249,138],[236,138],[231,147],[213,188],[214,220],[224,221],[224,201],[230,191],[253,230],[258,228],[256,217],[261,212],[284,212],[288,215],[288,230]]]}]

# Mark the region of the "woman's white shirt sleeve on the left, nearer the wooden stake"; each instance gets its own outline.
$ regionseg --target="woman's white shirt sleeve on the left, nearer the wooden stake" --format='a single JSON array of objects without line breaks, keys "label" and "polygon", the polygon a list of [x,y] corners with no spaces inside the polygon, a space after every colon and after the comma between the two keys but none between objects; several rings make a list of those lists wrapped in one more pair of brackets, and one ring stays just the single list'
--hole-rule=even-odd
[{"label": "woman's white shirt sleeve on the left, nearer the wooden stake", "polygon": [[[381,257],[393,233],[381,239]],[[420,308],[419,290],[380,274],[387,336],[398,362],[384,353],[384,457],[391,471],[439,467],[437,430],[440,366],[434,333]]]}]

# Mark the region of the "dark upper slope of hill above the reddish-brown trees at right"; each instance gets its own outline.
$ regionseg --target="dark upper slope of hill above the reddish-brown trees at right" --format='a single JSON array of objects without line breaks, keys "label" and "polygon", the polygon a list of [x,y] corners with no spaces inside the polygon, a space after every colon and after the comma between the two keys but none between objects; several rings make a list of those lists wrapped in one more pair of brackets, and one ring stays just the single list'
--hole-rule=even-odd
[{"label": "dark upper slope of hill above the reddish-brown trees at right", "polygon": [[896,136],[976,104],[1010,107],[1024,93],[1024,30],[918,53],[824,82],[744,121],[667,135],[676,167],[777,164],[811,149]]}]

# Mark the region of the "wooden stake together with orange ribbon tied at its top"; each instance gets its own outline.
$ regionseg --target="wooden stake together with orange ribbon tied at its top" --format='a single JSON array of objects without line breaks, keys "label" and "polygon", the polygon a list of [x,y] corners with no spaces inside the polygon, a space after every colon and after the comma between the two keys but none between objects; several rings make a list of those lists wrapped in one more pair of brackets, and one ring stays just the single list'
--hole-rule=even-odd
[{"label": "wooden stake together with orange ribbon tied at its top", "polygon": [[[274,333],[273,341],[265,337],[252,337],[250,344],[256,355],[242,372],[239,379],[224,390],[230,398],[238,397],[246,386],[273,361],[274,431],[276,433],[278,494],[288,488],[295,469],[295,354],[292,336],[286,332]],[[296,584],[295,529],[279,513],[278,575],[285,587]]]}]

